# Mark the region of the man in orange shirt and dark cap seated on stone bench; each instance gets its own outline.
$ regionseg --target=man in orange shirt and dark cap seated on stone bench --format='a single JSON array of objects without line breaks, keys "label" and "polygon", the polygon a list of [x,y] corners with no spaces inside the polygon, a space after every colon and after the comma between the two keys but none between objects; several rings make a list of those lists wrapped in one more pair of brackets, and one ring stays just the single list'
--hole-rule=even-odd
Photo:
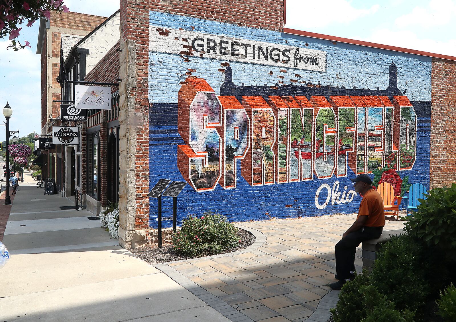
[{"label": "man in orange shirt and dark cap seated on stone bench", "polygon": [[360,174],[350,180],[354,182],[353,188],[363,196],[363,200],[359,205],[356,221],[342,234],[342,240],[336,244],[336,276],[334,277],[339,281],[329,285],[333,290],[340,290],[353,278],[356,247],[364,240],[380,237],[385,225],[383,199],[377,190],[372,188],[372,179],[367,174]]}]

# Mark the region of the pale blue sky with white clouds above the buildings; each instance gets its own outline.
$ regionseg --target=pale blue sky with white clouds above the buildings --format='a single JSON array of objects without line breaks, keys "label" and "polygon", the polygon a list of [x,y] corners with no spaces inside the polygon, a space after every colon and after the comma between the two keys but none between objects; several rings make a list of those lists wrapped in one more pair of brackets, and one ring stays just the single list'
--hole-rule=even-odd
[{"label": "pale blue sky with white clouds above the buildings", "polygon": [[[71,11],[110,16],[116,0],[67,0]],[[287,0],[286,27],[456,56],[456,0]],[[10,129],[41,132],[41,62],[38,22],[23,26],[20,41],[32,48],[6,50],[0,39],[0,107],[13,108]],[[3,116],[2,116],[3,118]],[[4,121],[4,118],[2,119]],[[0,127],[0,140],[5,127]]]}]

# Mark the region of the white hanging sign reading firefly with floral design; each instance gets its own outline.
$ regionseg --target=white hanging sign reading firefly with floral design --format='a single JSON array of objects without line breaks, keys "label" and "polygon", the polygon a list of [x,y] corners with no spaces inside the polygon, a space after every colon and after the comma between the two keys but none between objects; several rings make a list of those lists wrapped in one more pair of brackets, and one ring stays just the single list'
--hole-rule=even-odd
[{"label": "white hanging sign reading firefly with floral design", "polygon": [[76,108],[111,109],[111,87],[75,85],[74,93]]}]

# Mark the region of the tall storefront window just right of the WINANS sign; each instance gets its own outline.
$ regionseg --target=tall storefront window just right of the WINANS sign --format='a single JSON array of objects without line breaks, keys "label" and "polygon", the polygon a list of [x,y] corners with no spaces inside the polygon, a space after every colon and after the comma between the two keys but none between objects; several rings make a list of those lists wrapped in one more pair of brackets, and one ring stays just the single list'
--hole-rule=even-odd
[{"label": "tall storefront window just right of the WINANS sign", "polygon": [[99,200],[99,148],[98,148],[99,132],[88,134],[88,162],[87,162],[87,194],[94,199]]}]

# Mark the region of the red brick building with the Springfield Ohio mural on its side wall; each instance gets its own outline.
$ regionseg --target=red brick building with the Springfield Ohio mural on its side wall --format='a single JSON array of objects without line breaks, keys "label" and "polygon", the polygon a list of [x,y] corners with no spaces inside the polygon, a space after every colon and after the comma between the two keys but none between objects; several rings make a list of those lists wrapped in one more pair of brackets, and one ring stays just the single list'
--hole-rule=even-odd
[{"label": "red brick building with the Springfield Ohio mural on its side wall", "polygon": [[[119,26],[84,79],[120,79],[125,247],[156,241],[147,194],[159,179],[187,182],[178,223],[206,210],[233,221],[354,212],[348,178],[360,173],[401,194],[456,180],[456,57],[290,30],[282,0],[120,0]],[[93,115],[111,136],[109,113]]]}]

